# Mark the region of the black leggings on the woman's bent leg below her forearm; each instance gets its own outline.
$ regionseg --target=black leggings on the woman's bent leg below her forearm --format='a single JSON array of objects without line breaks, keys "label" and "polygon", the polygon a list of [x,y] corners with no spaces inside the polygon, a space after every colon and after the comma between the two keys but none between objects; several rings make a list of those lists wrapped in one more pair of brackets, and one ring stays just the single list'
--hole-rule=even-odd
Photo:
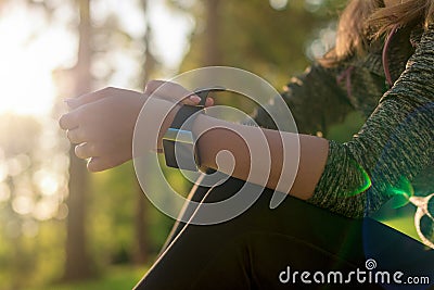
[{"label": "black leggings on the woman's bent leg below her forearm", "polygon": [[[230,178],[212,189],[193,189],[189,198],[215,202],[229,198],[242,186],[243,181]],[[367,247],[363,242],[366,222],[346,218],[291,197],[270,210],[271,194],[272,191],[266,189],[245,213],[221,224],[186,226],[177,222],[165,251],[137,289],[348,289],[348,285],[340,283],[303,283],[301,273],[322,270],[327,275],[330,270],[367,270],[363,251]],[[193,210],[184,209],[181,214],[190,216]],[[368,222],[384,236],[381,237],[384,240],[382,245],[392,244],[399,251],[394,239],[408,244],[405,241],[410,239],[406,236],[376,222]],[[422,249],[419,243],[412,243],[413,248]],[[414,259],[429,261],[427,253],[434,262],[432,252]],[[296,285],[291,279],[285,283],[280,281],[279,275],[283,280],[288,278],[288,269],[291,278],[294,272],[298,272],[294,278]],[[433,265],[430,275],[432,269]],[[427,275],[419,273],[419,276],[422,274]],[[308,278],[312,280],[312,276]],[[352,282],[360,289],[381,289],[373,283],[361,285],[355,277]]]}]

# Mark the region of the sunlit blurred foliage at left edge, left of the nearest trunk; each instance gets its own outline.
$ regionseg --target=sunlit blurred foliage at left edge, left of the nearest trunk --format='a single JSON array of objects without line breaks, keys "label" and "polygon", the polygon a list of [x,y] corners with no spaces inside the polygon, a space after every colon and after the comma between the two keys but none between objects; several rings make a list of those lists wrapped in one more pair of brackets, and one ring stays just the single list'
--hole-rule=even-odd
[{"label": "sunlit blurred foliage at left edge, left of the nearest trunk", "polygon": [[64,180],[56,180],[53,196],[43,178],[56,179],[66,162],[55,134],[42,126],[50,128],[30,116],[0,116],[0,289],[49,280],[62,269],[64,228],[56,212]]}]

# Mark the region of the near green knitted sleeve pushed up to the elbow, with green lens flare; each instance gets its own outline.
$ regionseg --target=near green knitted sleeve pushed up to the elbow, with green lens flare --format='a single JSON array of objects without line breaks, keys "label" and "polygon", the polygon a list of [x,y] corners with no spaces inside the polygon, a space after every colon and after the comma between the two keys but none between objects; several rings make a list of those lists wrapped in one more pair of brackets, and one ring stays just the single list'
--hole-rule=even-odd
[{"label": "near green knitted sleeve pushed up to the elbow, with green lens flare", "polygon": [[[324,172],[308,201],[362,217],[404,190],[434,157],[434,25],[407,67],[346,143],[330,141]],[[405,182],[404,182],[405,184]]]}]

